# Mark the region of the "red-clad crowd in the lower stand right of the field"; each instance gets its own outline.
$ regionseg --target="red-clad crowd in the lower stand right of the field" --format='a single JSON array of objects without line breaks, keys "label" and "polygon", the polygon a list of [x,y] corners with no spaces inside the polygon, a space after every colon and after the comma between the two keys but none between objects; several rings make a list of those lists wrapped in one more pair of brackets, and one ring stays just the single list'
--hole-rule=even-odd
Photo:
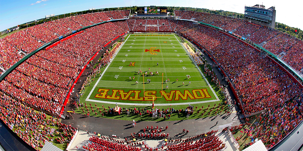
[{"label": "red-clad crowd in the lower stand right of the field", "polygon": [[267,109],[302,93],[285,72],[270,59],[259,57],[256,50],[205,27],[195,28],[185,32],[186,36],[208,50],[227,72],[244,103],[246,114]]}]

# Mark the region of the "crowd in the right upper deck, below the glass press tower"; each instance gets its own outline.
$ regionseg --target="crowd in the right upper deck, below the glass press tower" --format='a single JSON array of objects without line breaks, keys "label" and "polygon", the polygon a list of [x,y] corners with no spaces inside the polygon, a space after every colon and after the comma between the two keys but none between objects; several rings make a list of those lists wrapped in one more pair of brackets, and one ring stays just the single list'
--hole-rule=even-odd
[{"label": "crowd in the right upper deck, below the glass press tower", "polygon": [[[286,63],[290,64],[298,72],[303,69],[303,59],[301,55],[303,53],[303,50],[300,44],[301,42],[299,42],[301,40],[298,40],[295,37],[281,33],[275,29],[263,27],[254,23],[249,23],[238,18],[204,12],[179,10],[175,10],[175,14],[177,18],[192,19],[195,21],[201,21],[206,24],[221,27],[258,44],[266,42],[263,46],[265,49],[271,51],[275,55],[278,55],[284,51],[287,54],[285,55],[285,58],[282,59]],[[175,28],[172,26],[171,28],[173,31],[178,31],[178,28],[176,28],[176,30],[174,30]]]}]

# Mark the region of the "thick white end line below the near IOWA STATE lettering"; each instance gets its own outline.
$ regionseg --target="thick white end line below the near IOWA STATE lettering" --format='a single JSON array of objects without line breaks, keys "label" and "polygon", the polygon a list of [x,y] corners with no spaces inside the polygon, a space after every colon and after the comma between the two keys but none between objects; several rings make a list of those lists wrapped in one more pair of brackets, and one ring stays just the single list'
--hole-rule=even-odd
[{"label": "thick white end line below the near IOWA STATE lettering", "polygon": [[[118,105],[140,105],[140,106],[151,106],[149,103],[120,103],[120,102],[109,102],[109,101],[99,101],[88,99],[86,101],[99,102],[99,103],[108,103],[108,104],[118,104]],[[186,101],[186,100],[184,100]],[[200,104],[200,103],[209,103],[216,102],[218,100],[208,100],[208,101],[198,101],[198,102],[184,102],[184,103],[163,103],[163,104],[154,104],[155,106],[169,106],[169,105],[188,105],[188,104]]]}]

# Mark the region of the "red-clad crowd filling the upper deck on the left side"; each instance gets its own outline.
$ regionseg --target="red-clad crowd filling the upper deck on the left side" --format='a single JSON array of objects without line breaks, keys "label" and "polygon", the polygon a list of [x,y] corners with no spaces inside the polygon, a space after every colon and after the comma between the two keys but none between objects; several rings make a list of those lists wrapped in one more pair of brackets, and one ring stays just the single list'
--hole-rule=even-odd
[{"label": "red-clad crowd filling the upper deck on the left side", "polygon": [[[10,66],[17,63],[23,57],[22,54],[18,54],[19,50],[22,50],[25,53],[31,53],[38,47],[41,47],[43,43],[50,42],[62,35],[68,34],[84,26],[108,21],[110,18],[122,19],[124,18],[122,14],[127,15],[129,12],[129,10],[108,11],[69,16],[28,27],[17,33],[10,34],[5,38],[0,39],[0,66],[7,70]],[[123,21],[121,24],[125,25],[125,22]],[[124,28],[122,29],[124,30]],[[127,31],[128,30],[129,28]]]}]

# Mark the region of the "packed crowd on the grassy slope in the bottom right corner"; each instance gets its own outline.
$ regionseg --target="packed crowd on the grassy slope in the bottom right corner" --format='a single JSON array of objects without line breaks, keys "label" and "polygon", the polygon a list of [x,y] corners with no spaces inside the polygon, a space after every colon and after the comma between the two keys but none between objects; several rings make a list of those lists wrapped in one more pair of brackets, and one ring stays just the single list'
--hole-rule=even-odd
[{"label": "packed crowd on the grassy slope in the bottom right corner", "polygon": [[[266,148],[269,149],[281,141],[291,132],[302,119],[301,104],[303,95],[299,95],[293,101],[278,104],[277,106],[264,111],[260,116],[253,116],[245,124],[230,127],[230,131],[238,142],[244,142],[245,146],[254,143],[253,140],[261,139]],[[223,131],[227,128],[223,129]],[[246,140],[250,138],[249,142]]]}]

